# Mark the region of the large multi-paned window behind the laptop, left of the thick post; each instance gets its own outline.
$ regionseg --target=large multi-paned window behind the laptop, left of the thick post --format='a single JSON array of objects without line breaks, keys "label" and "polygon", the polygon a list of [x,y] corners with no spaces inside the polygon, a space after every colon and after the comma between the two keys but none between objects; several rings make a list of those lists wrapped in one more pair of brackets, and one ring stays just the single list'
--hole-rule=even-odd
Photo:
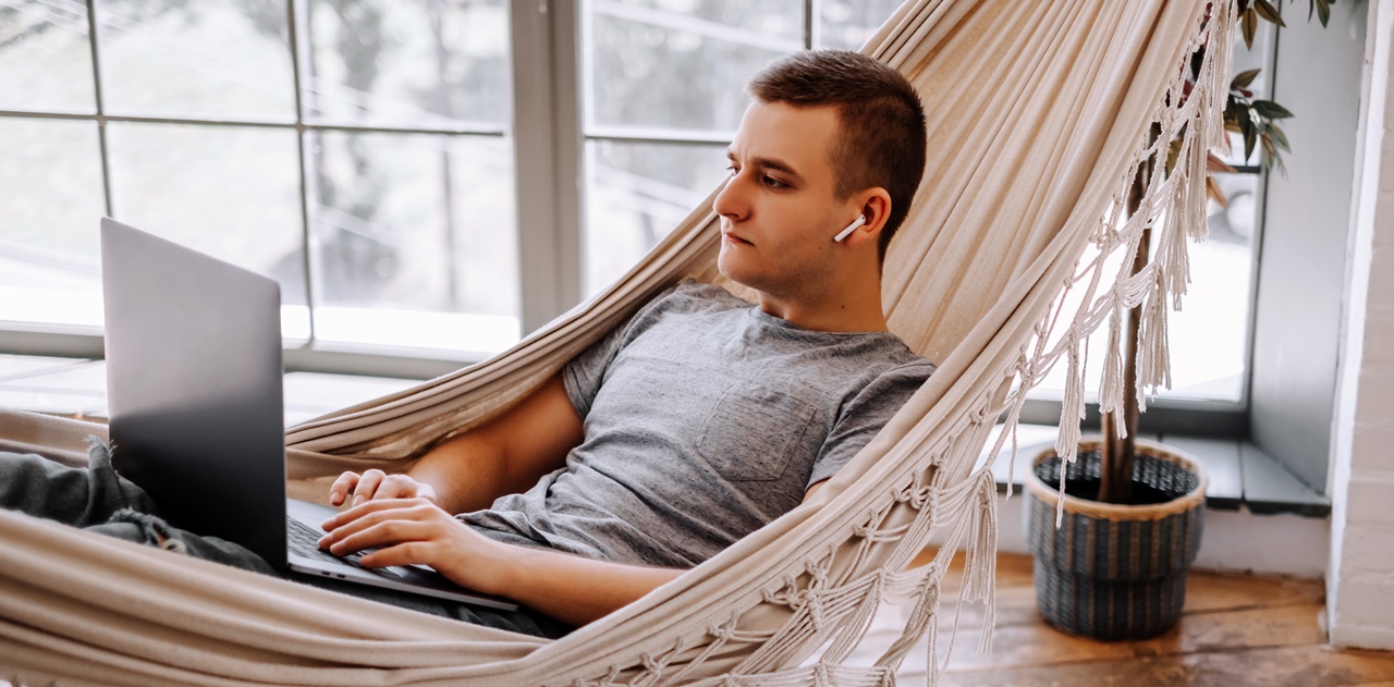
[{"label": "large multi-paned window behind the laptop, left of the thick post", "polygon": [[516,343],[509,36],[503,0],[0,4],[0,321],[100,327],[107,213],[276,279],[289,346]]}]

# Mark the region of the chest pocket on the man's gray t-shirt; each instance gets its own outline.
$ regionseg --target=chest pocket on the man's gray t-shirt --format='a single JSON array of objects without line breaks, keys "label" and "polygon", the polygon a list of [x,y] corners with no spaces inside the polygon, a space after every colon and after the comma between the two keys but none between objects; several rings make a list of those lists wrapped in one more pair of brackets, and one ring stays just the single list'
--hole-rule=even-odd
[{"label": "chest pocket on the man's gray t-shirt", "polygon": [[818,408],[788,393],[736,382],[703,422],[697,453],[733,482],[779,479],[817,414]]}]

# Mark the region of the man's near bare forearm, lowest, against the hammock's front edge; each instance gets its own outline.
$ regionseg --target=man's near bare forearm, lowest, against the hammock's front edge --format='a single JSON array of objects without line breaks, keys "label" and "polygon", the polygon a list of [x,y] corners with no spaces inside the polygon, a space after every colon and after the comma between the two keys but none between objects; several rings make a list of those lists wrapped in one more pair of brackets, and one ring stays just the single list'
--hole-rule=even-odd
[{"label": "man's near bare forearm, lowest, against the hammock's front edge", "polygon": [[548,549],[503,545],[509,576],[500,595],[583,626],[626,606],[683,574],[671,567],[644,567],[584,559]]}]

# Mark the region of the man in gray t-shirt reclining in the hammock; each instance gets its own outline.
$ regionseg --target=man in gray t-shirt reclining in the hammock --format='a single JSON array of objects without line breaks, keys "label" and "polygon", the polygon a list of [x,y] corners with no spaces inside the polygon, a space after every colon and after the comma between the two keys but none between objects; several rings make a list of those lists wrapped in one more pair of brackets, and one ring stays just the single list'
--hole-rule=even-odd
[{"label": "man in gray t-shirt reclining in the hammock", "polygon": [[406,474],[342,475],[330,502],[348,507],[321,546],[431,566],[528,609],[446,615],[556,635],[793,509],[880,431],[934,369],[881,312],[885,248],[923,174],[923,109],[899,74],[849,52],[778,60],[749,91],[714,209],[718,268],[758,304],[696,283],[661,294]]}]

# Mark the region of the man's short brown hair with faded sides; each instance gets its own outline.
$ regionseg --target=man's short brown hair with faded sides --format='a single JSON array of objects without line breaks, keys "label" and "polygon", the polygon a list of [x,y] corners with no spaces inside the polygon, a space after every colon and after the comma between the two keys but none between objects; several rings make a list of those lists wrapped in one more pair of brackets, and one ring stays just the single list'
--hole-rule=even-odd
[{"label": "man's short brown hair with faded sides", "polygon": [[891,216],[877,245],[885,259],[885,247],[910,212],[924,176],[924,106],[914,86],[860,53],[804,50],[765,65],[746,91],[764,103],[838,109],[842,135],[829,152],[836,192],[846,198],[880,187],[891,194]]}]

